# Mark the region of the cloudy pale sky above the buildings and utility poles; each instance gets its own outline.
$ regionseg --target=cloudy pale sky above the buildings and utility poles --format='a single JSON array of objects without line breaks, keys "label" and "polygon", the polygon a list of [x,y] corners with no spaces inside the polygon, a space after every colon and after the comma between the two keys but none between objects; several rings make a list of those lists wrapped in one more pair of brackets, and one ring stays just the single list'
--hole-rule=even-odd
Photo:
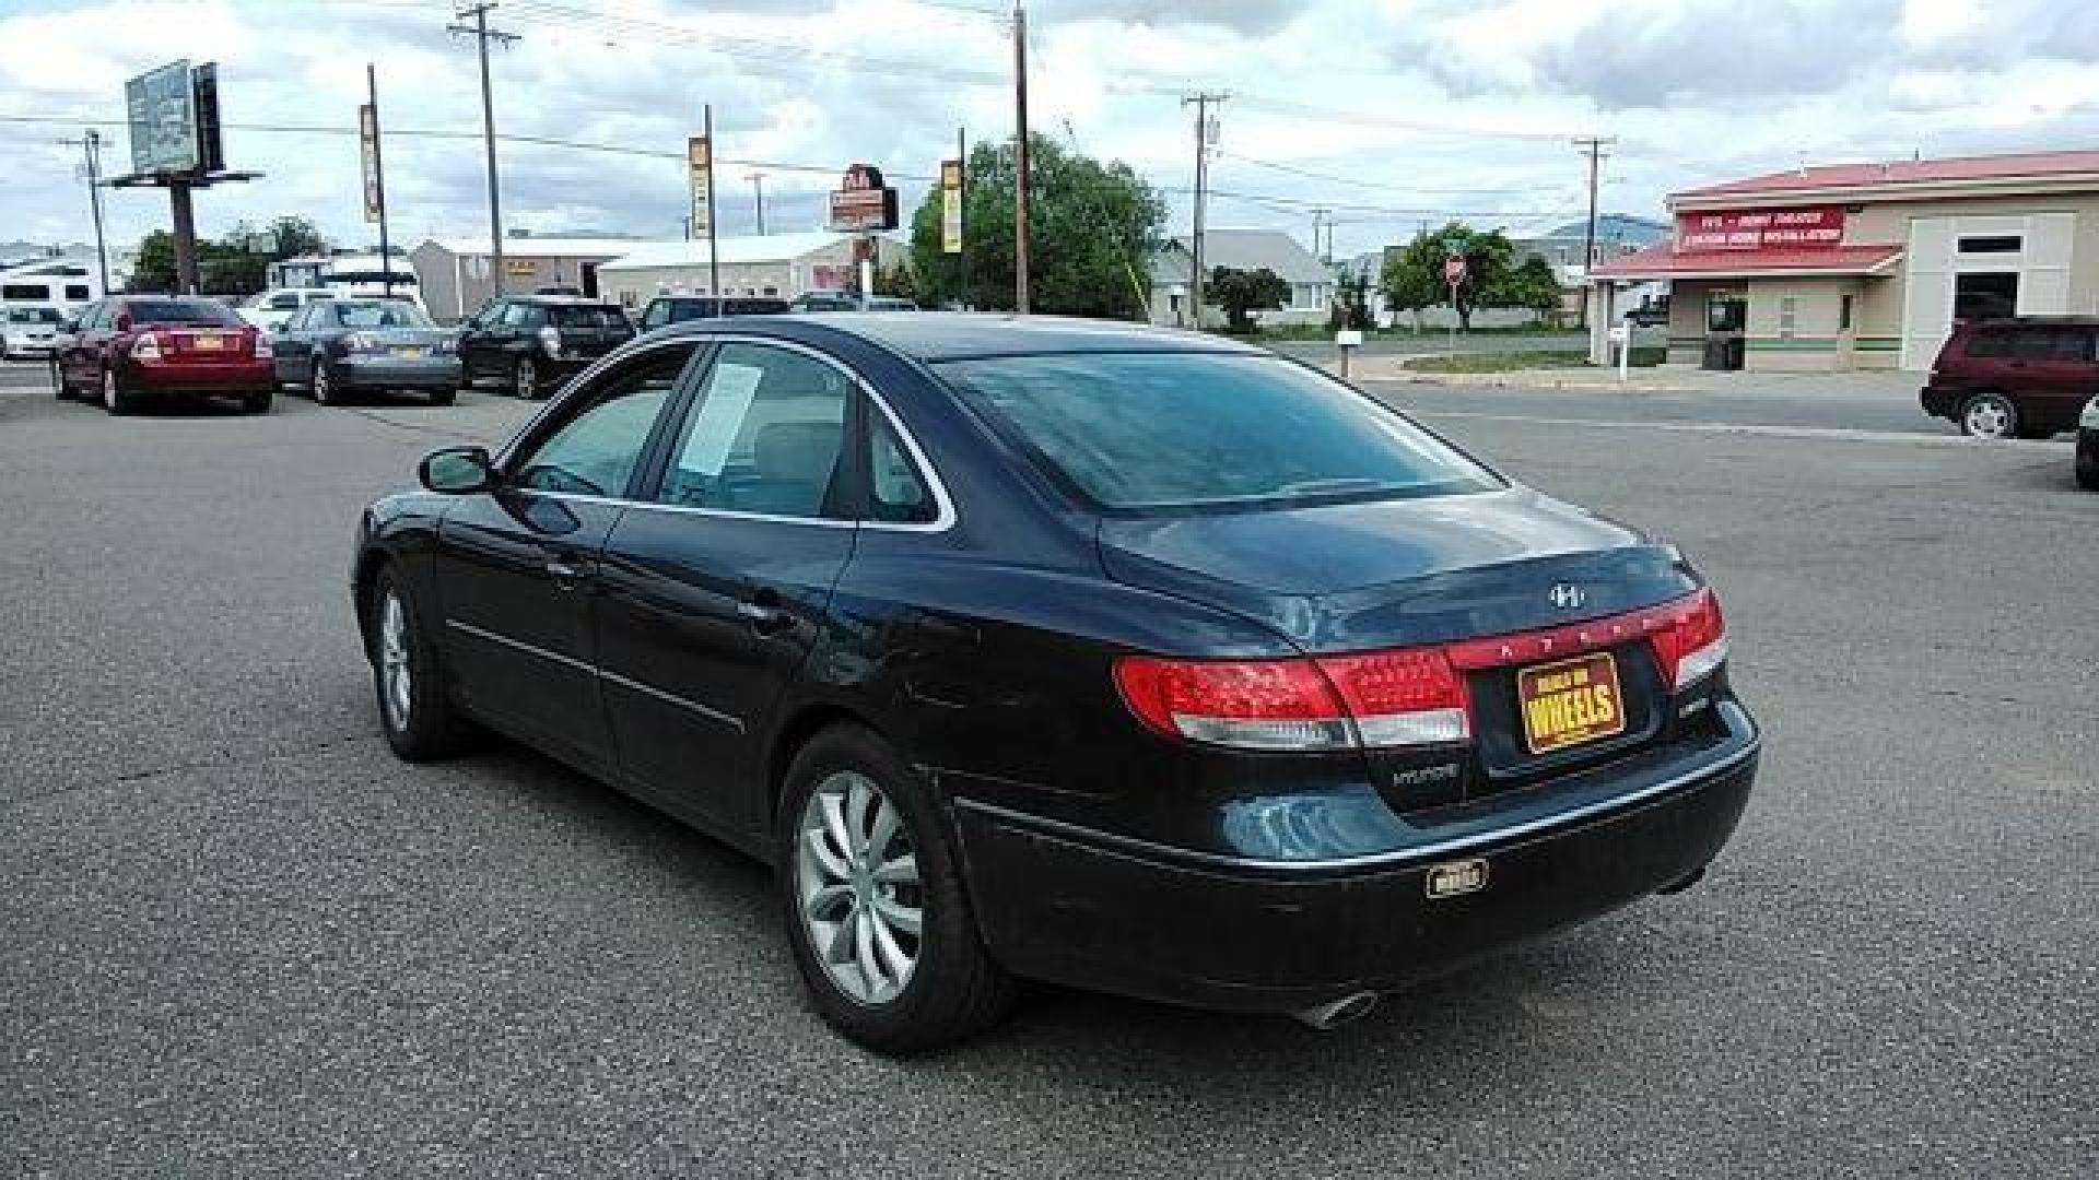
[{"label": "cloudy pale sky above the buildings and utility poles", "polygon": [[[491,23],[504,214],[535,233],[680,233],[684,136],[714,105],[724,233],[814,229],[867,160],[915,202],[955,130],[1012,134],[1001,0],[502,0]],[[227,157],[267,176],[199,197],[218,233],[311,216],[363,244],[357,103],[378,65],[395,235],[485,231],[472,44],[449,0],[0,0],[0,241],[86,237],[86,120],[128,162],[124,80],[220,63]],[[1463,216],[1539,229],[1583,210],[1570,136],[1616,136],[1604,208],[1790,168],[2099,145],[2095,0],[1033,0],[1041,134],[1133,164],[1188,220],[1180,94],[1224,90],[1213,225],[1337,252]],[[756,164],[756,168],[754,168]],[[111,193],[122,248],[166,223]]]}]

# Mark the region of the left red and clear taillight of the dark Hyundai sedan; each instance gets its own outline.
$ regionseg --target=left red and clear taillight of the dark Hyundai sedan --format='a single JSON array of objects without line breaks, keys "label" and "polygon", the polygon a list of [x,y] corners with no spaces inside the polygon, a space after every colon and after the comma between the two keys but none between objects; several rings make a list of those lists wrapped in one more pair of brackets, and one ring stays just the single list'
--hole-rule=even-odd
[{"label": "left red and clear taillight of the dark Hyundai sedan", "polygon": [[1348,750],[1354,731],[1310,659],[1115,661],[1115,684],[1144,724],[1243,750]]}]

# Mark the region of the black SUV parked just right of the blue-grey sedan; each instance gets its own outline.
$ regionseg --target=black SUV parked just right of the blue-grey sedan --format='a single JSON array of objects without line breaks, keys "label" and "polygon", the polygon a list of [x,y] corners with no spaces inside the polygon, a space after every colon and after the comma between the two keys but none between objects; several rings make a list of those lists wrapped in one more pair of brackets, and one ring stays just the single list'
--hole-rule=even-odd
[{"label": "black SUV parked just right of the blue-grey sedan", "polygon": [[525,399],[548,397],[632,338],[634,323],[619,304],[571,296],[497,298],[460,325],[460,380],[493,380]]}]

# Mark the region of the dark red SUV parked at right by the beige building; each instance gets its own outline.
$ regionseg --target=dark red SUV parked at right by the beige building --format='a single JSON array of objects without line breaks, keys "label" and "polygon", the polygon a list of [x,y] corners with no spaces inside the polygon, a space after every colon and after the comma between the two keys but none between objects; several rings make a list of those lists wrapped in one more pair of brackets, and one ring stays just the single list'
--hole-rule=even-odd
[{"label": "dark red SUV parked at right by the beige building", "polygon": [[1977,439],[2047,439],[2099,393],[2099,317],[1973,319],[1954,325],[1918,395],[1925,414]]}]

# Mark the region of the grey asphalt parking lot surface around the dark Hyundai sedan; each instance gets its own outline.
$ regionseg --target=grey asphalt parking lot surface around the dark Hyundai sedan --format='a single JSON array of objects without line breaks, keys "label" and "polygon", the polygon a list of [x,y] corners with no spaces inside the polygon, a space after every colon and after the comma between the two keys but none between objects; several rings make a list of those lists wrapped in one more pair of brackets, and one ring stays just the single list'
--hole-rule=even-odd
[{"label": "grey asphalt parking lot surface around the dark Hyundai sedan", "polygon": [[1711,876],[1327,1035],[1045,989],[892,1062],[802,1006],[758,867],[544,758],[380,739],[355,512],[529,407],[111,420],[0,374],[0,1167],[2089,1176],[2070,447],[1390,395],[1713,577],[1767,752]]}]

